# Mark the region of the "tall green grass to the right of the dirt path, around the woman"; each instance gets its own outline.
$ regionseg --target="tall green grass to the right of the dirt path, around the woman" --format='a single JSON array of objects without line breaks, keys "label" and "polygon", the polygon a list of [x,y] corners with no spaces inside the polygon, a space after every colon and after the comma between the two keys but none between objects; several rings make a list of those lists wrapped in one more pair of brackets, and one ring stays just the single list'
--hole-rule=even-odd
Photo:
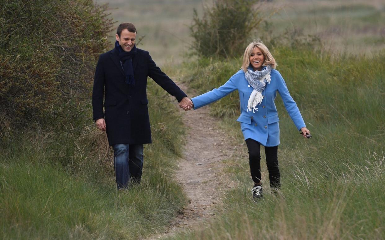
[{"label": "tall green grass to the right of the dirt path, around the woman", "polygon": [[[237,143],[234,156],[223,161],[223,176],[235,187],[225,190],[217,217],[170,239],[383,239],[384,52],[357,61],[307,46],[270,48],[313,138],[301,138],[277,97],[282,189],[270,193],[262,151],[264,199],[255,204],[247,148],[235,121],[238,95],[211,104],[218,125]],[[204,93],[240,65],[240,59],[200,60],[188,65],[186,81]]]}]

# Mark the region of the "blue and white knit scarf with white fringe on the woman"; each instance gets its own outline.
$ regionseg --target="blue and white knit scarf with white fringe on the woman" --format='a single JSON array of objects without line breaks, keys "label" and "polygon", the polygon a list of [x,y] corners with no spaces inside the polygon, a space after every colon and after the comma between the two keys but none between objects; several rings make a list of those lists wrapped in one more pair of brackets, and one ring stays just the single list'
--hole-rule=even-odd
[{"label": "blue and white knit scarf with white fringe on the woman", "polygon": [[256,108],[257,105],[261,104],[263,96],[262,91],[266,87],[266,83],[270,84],[271,65],[267,65],[266,68],[262,71],[253,71],[252,68],[247,68],[247,72],[244,73],[244,76],[248,83],[253,87],[253,92],[250,95],[247,111],[258,111]]}]

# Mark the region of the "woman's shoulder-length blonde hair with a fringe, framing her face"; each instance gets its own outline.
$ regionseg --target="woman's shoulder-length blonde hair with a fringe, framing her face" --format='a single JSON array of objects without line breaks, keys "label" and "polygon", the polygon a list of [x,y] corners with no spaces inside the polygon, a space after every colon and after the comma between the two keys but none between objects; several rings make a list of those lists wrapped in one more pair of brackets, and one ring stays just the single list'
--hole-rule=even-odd
[{"label": "woman's shoulder-length blonde hair with a fringe, framing her face", "polygon": [[275,68],[276,66],[278,66],[278,64],[275,62],[275,59],[271,55],[269,49],[266,47],[266,45],[262,43],[260,39],[258,39],[257,41],[253,41],[252,43],[250,43],[249,46],[247,46],[246,50],[244,50],[241,68],[245,73],[250,65],[250,56],[251,53],[253,53],[254,48],[259,48],[259,50],[261,50],[263,54],[264,60],[262,66],[266,66],[269,64],[271,64],[271,68]]}]

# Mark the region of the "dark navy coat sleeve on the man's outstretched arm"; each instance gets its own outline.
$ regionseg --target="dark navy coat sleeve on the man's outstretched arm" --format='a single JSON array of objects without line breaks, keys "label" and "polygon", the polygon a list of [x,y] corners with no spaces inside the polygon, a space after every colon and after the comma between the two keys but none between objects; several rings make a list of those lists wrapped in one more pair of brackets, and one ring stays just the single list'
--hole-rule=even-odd
[{"label": "dark navy coat sleeve on the man's outstretched arm", "polygon": [[178,102],[182,101],[182,98],[187,97],[175,83],[172,81],[161,69],[156,66],[155,62],[152,60],[151,56],[147,52],[147,66],[148,66],[148,76],[152,78],[159,86],[161,86],[167,93],[174,96]]}]

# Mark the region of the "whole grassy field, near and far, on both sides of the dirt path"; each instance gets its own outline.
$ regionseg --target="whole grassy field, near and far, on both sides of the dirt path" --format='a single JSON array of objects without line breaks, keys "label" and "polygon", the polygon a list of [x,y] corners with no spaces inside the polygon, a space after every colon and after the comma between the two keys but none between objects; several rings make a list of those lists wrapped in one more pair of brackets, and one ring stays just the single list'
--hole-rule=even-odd
[{"label": "whole grassy field, near and far, on both sides of the dirt path", "polygon": [[[201,16],[211,1],[95,2],[109,2],[114,28],[134,23],[138,47],[195,94],[239,70],[241,56],[191,54],[193,9]],[[264,199],[256,204],[235,121],[238,93],[208,106],[234,146],[219,168],[223,187],[213,192],[221,203],[207,221],[165,238],[384,239],[385,2],[273,0],[258,8],[264,21],[254,36],[278,61],[313,138],[299,136],[277,97],[282,189],[270,193],[262,157]],[[94,126],[90,100],[71,103],[75,114],[63,111],[69,119],[30,119],[27,128],[0,116],[0,238],[144,239],[164,232],[188,205],[175,169],[189,113],[154,81],[147,95],[153,143],[144,149],[142,184],[125,192],[115,189],[112,150]]]}]

